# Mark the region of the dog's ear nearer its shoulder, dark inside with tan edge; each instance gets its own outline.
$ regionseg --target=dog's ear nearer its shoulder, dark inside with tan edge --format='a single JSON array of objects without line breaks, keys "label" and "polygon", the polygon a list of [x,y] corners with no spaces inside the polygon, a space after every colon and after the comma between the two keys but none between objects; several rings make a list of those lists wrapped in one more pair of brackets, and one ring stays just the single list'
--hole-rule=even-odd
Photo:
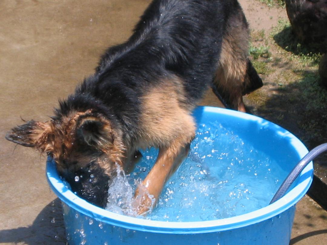
[{"label": "dog's ear nearer its shoulder, dark inside with tan edge", "polygon": [[114,135],[108,120],[97,117],[83,118],[77,128],[77,136],[90,146],[106,151],[113,145]]}]

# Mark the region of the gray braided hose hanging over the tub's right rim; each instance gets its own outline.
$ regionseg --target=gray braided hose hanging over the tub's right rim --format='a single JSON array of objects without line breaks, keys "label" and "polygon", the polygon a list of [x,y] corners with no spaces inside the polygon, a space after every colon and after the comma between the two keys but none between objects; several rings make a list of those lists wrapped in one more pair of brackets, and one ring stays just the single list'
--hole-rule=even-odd
[{"label": "gray braided hose hanging over the tub's right rim", "polygon": [[272,204],[282,198],[288,188],[292,185],[292,183],[295,181],[295,179],[300,175],[301,171],[311,162],[313,159],[315,159],[318,155],[323,153],[327,150],[327,143],[318,145],[314,149],[312,149],[307,155],[305,155],[299,163],[295,166],[295,168],[288,174],[286,179],[284,180],[281,187],[278,189],[274,197],[271,199],[269,204]]}]

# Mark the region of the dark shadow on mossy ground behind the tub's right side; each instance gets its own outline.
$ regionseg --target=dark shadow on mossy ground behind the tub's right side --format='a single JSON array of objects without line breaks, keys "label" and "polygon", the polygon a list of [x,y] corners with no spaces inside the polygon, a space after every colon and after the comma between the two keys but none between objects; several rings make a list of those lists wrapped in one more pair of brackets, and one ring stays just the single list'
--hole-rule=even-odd
[{"label": "dark shadow on mossy ground behind the tub's right side", "polygon": [[[296,135],[309,150],[327,142],[327,89],[317,71],[290,71],[294,82],[280,84],[255,112]],[[327,183],[327,153],[315,159],[315,173]]]}]

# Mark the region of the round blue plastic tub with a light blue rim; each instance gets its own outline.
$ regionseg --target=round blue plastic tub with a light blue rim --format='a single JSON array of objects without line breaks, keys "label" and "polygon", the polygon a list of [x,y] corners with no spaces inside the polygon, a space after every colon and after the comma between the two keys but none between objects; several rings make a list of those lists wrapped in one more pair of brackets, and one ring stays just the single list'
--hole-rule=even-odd
[{"label": "round blue plastic tub with a light blue rim", "polygon": [[[237,111],[198,107],[197,123],[219,122],[290,172],[308,150],[290,132],[262,118]],[[228,144],[228,142],[226,142]],[[312,162],[277,202],[225,219],[165,222],[115,214],[77,197],[62,182],[51,159],[46,174],[63,205],[69,244],[289,244],[295,204],[312,182]],[[279,186],[276,186],[276,190]]]}]

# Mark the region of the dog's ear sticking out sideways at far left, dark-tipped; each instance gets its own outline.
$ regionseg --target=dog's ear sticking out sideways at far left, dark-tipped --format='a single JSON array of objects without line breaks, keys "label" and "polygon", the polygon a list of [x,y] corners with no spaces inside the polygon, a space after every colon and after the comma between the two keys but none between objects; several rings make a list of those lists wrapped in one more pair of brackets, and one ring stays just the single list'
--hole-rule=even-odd
[{"label": "dog's ear sticking out sideways at far left, dark-tipped", "polygon": [[40,152],[53,149],[52,122],[28,121],[16,126],[6,135],[6,139],[27,147],[35,147]]}]

